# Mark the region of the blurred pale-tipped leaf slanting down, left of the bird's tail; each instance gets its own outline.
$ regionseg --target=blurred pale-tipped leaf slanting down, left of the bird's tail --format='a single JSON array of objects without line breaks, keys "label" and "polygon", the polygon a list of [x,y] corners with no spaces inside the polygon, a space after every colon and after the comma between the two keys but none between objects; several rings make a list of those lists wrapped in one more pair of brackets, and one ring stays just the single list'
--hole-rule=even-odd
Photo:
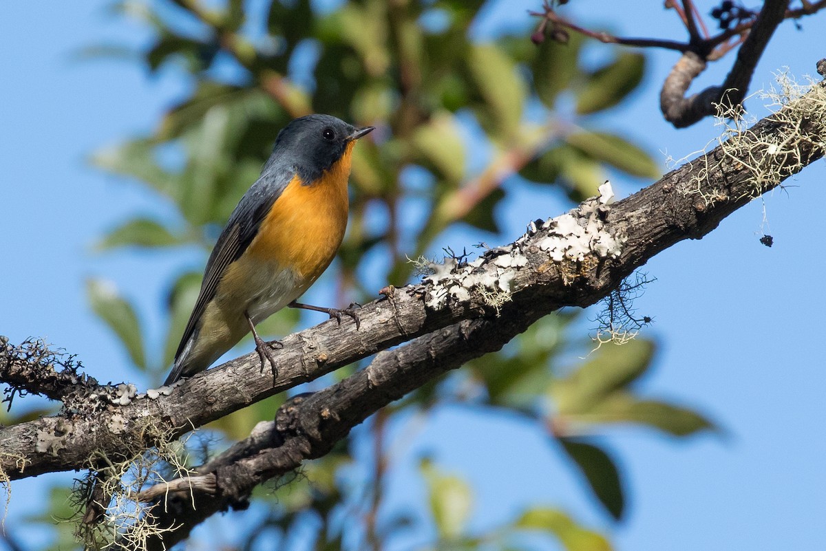
[{"label": "blurred pale-tipped leaf slanting down, left of the bird's tail", "polygon": [[132,305],[117,294],[114,285],[101,280],[87,280],[86,294],[94,313],[120,338],[132,362],[145,370],[144,343]]}]

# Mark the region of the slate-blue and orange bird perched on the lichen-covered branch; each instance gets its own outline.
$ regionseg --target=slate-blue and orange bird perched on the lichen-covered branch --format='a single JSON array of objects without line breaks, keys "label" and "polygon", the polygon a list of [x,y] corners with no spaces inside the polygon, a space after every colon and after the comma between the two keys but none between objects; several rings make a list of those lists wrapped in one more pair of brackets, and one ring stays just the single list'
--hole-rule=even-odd
[{"label": "slate-blue and orange bird perched on the lichen-covered branch", "polygon": [[[338,318],[352,308],[296,299],[330,266],[349,210],[348,180],[356,140],[375,130],[331,115],[292,120],[275,139],[261,176],[241,197],[207,260],[201,291],[164,385],[196,374],[252,332],[263,372],[275,360],[255,325],[284,307]],[[351,305],[352,307],[352,305]]]}]

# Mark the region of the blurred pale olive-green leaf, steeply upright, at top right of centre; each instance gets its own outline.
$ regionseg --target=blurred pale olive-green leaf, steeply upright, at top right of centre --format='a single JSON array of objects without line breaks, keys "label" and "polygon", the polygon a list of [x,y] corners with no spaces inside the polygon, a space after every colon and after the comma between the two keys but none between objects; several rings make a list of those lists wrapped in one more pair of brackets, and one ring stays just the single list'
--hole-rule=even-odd
[{"label": "blurred pale olive-green leaf, steeply upright, at top right of centre", "polygon": [[470,46],[467,63],[487,103],[487,113],[496,121],[496,128],[490,130],[501,139],[511,138],[519,128],[527,97],[525,80],[517,76],[513,59],[495,44],[475,44]]}]

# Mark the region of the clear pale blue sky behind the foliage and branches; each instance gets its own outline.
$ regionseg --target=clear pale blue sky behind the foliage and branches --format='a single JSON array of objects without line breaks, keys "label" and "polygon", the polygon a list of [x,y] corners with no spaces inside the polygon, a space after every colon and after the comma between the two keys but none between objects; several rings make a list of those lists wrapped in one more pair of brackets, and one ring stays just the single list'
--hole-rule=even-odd
[{"label": "clear pale blue sky behind the foliage and branches", "polygon": [[[523,28],[525,10],[539,3],[499,2],[474,32],[484,39],[502,28]],[[44,337],[77,354],[104,381],[134,379],[134,374],[127,372],[115,338],[90,311],[84,281],[91,276],[112,280],[139,300],[142,317],[154,323],[163,282],[202,262],[194,253],[97,257],[92,252],[95,239],[108,228],[127,215],[157,213],[159,205],[139,186],[89,167],[85,158],[151,130],[183,92],[171,75],[150,78],[137,64],[78,60],[74,54],[84,46],[149,40],[142,27],[107,15],[107,4],[0,5],[0,334],[12,341]],[[624,35],[682,36],[662,2],[645,5],[582,0],[572,2],[569,13]],[[770,85],[772,73],[785,66],[797,75],[814,73],[815,62],[826,56],[819,38],[823,23],[820,14],[802,22],[803,32],[788,23],[781,26],[752,87]],[[719,129],[705,120],[677,131],[662,120],[658,87],[676,58],[670,52],[651,54],[653,70],[643,87],[598,122],[653,152],[681,158],[702,148]],[[719,82],[729,64],[730,59],[716,64],[701,83]],[[748,106],[763,112],[758,99]],[[826,299],[820,275],[826,261],[819,204],[824,179],[820,161],[787,182],[786,191],[765,198],[774,247],[758,243],[763,204],[757,200],[702,241],[680,243],[645,266],[657,281],[648,285],[638,307],[655,318],[646,335],[657,340],[659,352],[643,393],[697,408],[724,428],[724,436],[677,441],[619,429],[601,438],[625,475],[629,511],[624,522],[607,519],[572,470],[528,426],[444,407],[418,432],[404,457],[436,450],[441,468],[468,478],[477,491],[472,524],[480,529],[535,503],[567,507],[586,524],[607,531],[625,551],[821,544],[826,362],[819,333]],[[614,183],[619,197],[641,186],[622,179]],[[497,213],[508,240],[518,237],[530,219],[564,208],[555,197],[538,195],[519,182],[508,186],[509,199]],[[468,244],[465,237],[449,234],[440,246],[461,248]],[[467,464],[471,446],[487,446],[490,453],[475,453],[474,463]],[[402,458],[389,507],[420,492],[412,469]],[[15,483],[7,523],[14,526],[15,519],[37,511],[45,482],[57,479]],[[230,519],[219,524],[229,525]]]}]

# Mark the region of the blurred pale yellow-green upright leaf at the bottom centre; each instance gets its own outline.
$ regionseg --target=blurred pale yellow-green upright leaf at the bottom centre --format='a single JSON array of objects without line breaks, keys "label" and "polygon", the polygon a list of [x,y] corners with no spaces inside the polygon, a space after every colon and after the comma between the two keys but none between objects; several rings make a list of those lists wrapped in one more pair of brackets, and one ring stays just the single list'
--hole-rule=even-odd
[{"label": "blurred pale yellow-green upright leaf at the bottom centre", "polygon": [[439,473],[433,464],[421,466],[430,491],[430,511],[439,535],[457,539],[468,522],[471,508],[471,490],[461,478]]}]

